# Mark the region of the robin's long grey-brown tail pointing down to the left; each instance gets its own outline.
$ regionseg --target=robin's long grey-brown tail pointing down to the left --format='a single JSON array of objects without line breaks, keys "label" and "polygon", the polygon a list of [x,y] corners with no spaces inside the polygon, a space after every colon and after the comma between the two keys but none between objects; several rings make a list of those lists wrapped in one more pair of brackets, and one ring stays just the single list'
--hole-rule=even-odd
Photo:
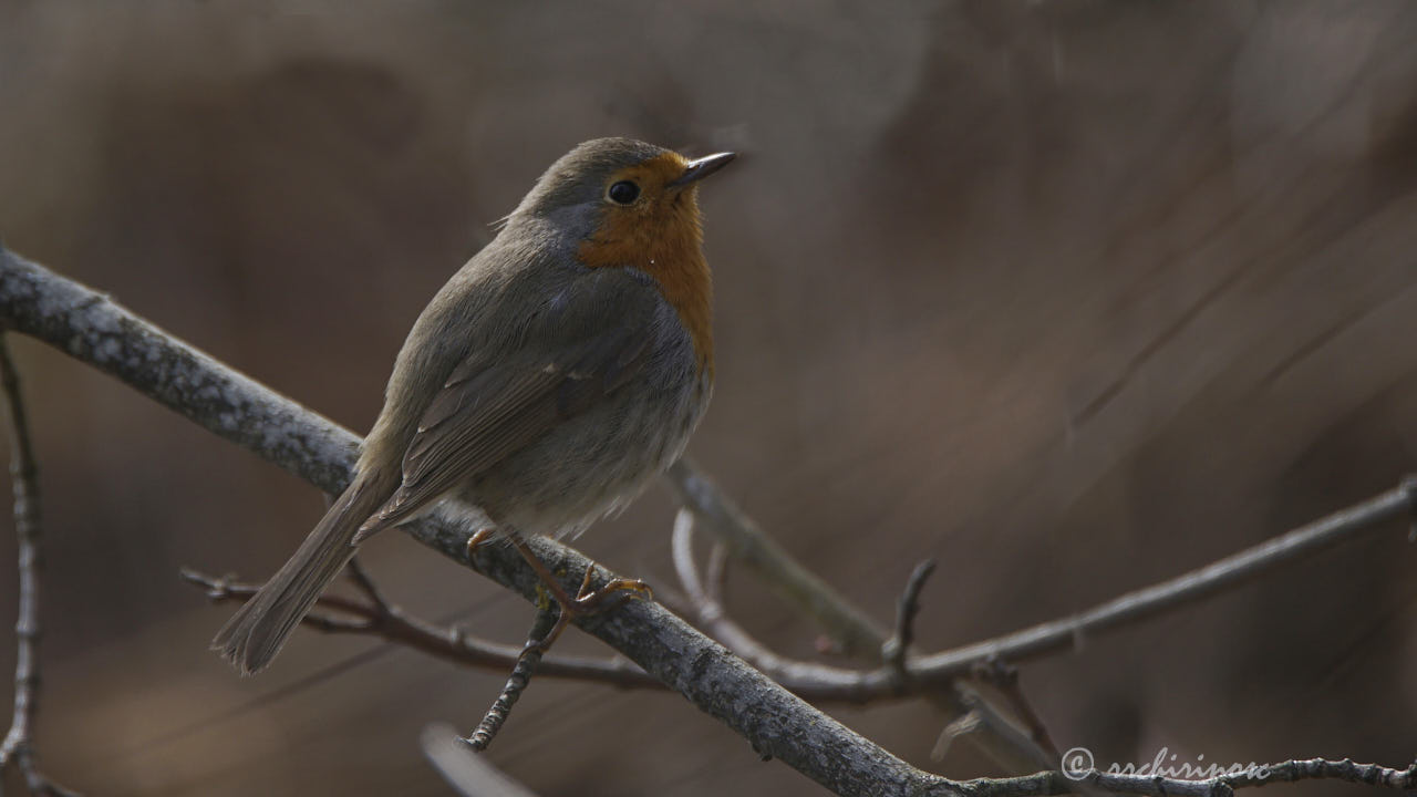
[{"label": "robin's long grey-brown tail pointing down to the left", "polygon": [[324,587],[354,556],[354,535],[395,484],[377,471],[360,474],[334,501],[299,550],[222,625],[211,650],[242,675],[259,672],[281,652]]}]

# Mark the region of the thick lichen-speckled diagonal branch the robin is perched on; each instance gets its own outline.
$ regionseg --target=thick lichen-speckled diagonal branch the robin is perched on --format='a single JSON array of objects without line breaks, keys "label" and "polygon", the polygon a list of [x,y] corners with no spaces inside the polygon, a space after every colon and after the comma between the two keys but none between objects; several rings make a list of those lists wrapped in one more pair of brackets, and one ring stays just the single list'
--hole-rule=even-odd
[{"label": "thick lichen-speckled diagonal branch the robin is perched on", "polygon": [[[0,250],[0,322],[120,379],[324,492],[343,491],[350,478],[359,438],[347,430],[163,333],[108,296],[9,250]],[[538,580],[516,552],[483,546],[476,563],[469,560],[473,532],[445,511],[408,528],[418,542],[533,600]],[[584,573],[591,564],[560,543],[531,545],[555,573]],[[597,579],[592,589],[605,580]],[[565,586],[578,587],[570,580]],[[577,624],[761,753],[837,794],[955,793],[951,781],[905,764],[816,710],[659,604],[629,601]]]}]

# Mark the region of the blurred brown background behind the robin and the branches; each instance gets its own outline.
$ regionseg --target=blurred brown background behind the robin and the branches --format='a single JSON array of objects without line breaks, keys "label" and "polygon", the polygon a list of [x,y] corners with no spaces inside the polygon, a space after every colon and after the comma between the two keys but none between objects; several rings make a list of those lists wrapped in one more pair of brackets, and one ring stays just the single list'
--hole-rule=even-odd
[{"label": "blurred brown background behind the robin and the branches", "polygon": [[[1362,3],[0,4],[0,234],[354,428],[434,291],[546,166],[629,135],[704,187],[718,383],[690,454],[938,650],[1087,608],[1387,489],[1417,459],[1417,7]],[[45,525],[44,767],[92,794],[449,794],[425,723],[503,672],[298,634],[238,679],[179,566],[261,579],[313,489],[17,340]],[[650,491],[578,547],[673,586]],[[519,642],[527,604],[388,535],[397,601]],[[1394,525],[1023,668],[1098,763],[1417,739]],[[14,550],[0,545],[0,618]],[[750,577],[731,604],[811,658]],[[9,623],[9,620],[3,620]],[[608,652],[568,634],[563,652]],[[13,640],[0,634],[0,671]],[[915,764],[921,702],[828,706]],[[818,794],[674,695],[540,681],[490,759],[547,794]],[[1357,794],[1335,784],[1299,794]]]}]

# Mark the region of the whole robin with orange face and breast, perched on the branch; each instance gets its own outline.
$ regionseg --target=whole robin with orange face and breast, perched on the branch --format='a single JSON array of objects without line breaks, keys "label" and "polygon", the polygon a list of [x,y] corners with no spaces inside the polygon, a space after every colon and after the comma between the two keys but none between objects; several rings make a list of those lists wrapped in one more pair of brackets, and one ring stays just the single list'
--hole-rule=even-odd
[{"label": "whole robin with orange face and breast, perched on the branch", "polygon": [[[623,508],[683,451],[713,390],[713,285],[696,160],[585,142],[537,180],[404,340],[354,476],[211,647],[262,669],[371,535],[453,499],[524,545]],[[588,580],[588,579],[587,579]],[[622,581],[611,589],[643,589]]]}]

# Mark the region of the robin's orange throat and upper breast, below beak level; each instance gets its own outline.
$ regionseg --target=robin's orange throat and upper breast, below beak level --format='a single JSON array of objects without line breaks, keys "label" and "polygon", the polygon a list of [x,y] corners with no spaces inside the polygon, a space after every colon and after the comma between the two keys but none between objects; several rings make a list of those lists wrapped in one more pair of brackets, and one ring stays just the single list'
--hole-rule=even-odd
[{"label": "robin's orange throat and upper breast, below beak level", "polygon": [[713,376],[713,277],[691,193],[652,216],[611,221],[577,257],[591,268],[636,268],[653,278],[694,343],[699,370]]}]

